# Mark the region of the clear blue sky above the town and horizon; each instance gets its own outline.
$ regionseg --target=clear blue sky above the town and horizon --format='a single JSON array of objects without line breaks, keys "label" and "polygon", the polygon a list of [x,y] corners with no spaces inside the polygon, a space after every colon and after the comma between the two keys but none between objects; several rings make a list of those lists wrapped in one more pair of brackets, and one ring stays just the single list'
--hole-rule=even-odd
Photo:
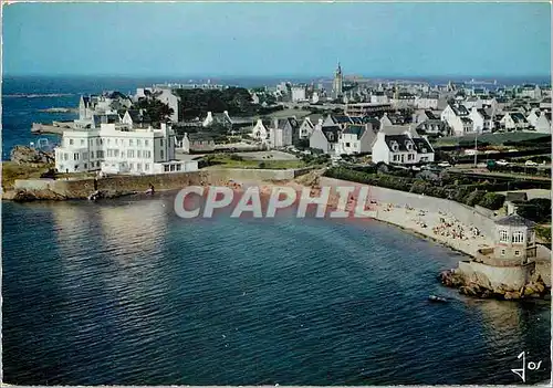
[{"label": "clear blue sky above the town and horizon", "polygon": [[547,76],[549,3],[14,3],[10,75]]}]

